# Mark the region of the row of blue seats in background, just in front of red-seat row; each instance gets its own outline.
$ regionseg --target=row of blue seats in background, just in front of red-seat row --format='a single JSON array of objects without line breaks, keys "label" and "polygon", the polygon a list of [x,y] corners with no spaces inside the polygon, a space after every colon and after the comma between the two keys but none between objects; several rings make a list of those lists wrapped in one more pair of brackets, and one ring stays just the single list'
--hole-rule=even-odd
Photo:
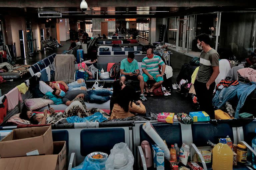
[{"label": "row of blue seats in background, just in front of red-seat row", "polygon": [[103,47],[98,48],[98,55],[128,55],[129,53],[137,52],[142,50],[142,46],[134,47],[108,47],[109,51],[104,51]]}]

